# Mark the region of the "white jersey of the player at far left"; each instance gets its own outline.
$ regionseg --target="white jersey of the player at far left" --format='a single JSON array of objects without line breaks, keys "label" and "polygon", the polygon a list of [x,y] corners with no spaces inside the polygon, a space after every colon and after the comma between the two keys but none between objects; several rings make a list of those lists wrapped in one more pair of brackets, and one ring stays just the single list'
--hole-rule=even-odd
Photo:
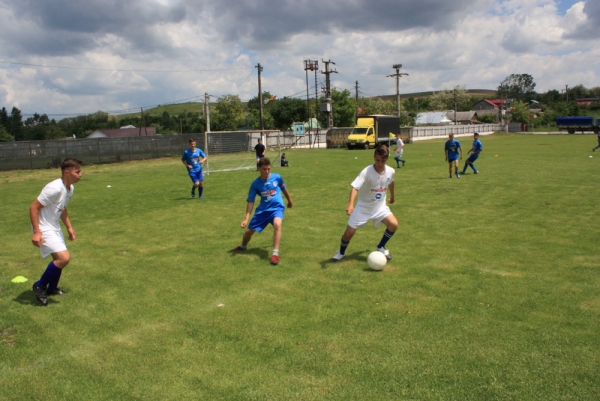
[{"label": "white jersey of the player at far left", "polygon": [[38,196],[38,201],[44,205],[40,210],[40,232],[61,231],[60,216],[69,204],[73,196],[74,187],[67,191],[62,179],[59,178],[47,184],[42,193]]}]

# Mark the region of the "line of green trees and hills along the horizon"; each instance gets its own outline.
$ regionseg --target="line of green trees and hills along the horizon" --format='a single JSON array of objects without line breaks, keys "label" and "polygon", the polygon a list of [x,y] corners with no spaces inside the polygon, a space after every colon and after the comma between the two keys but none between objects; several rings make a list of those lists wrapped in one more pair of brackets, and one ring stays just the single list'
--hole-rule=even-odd
[{"label": "line of green trees and hills along the horizon", "polygon": [[[581,106],[575,102],[577,98],[600,97],[600,87],[588,89],[577,85],[561,93],[552,89],[546,93],[535,92],[535,82],[529,74],[511,74],[497,88],[497,97],[509,99],[510,118],[515,122],[532,122],[535,125],[546,125],[555,121],[556,117],[578,116],[588,110],[600,110],[600,102]],[[568,99],[567,99],[568,96]],[[308,121],[309,115],[317,118],[322,127],[327,126],[327,115],[318,112],[324,98],[310,102],[310,110],[306,100],[284,97],[277,99],[270,92],[263,93],[263,124],[265,129],[289,130],[294,122]],[[472,110],[473,105],[482,98],[468,94],[466,87],[455,86],[443,89],[423,98],[402,99],[402,125],[412,125],[417,113],[432,110]],[[358,103],[348,90],[333,89],[333,121],[337,127],[354,126],[359,114],[396,114],[395,100],[380,98],[359,98]],[[535,107],[533,107],[535,106]],[[494,122],[491,115],[481,116],[482,122]],[[489,121],[487,121],[489,120]],[[37,114],[23,121],[22,113],[17,107],[10,111],[5,107],[0,110],[0,142],[62,139],[65,137],[85,138],[95,130],[114,129],[120,126],[155,127],[162,135],[176,133],[201,133],[206,128],[206,116],[200,112],[182,112],[169,115],[144,113],[138,116],[111,116],[98,111],[85,116],[69,117],[61,120],[49,119],[46,114]],[[243,103],[237,95],[225,95],[210,106],[211,131],[235,131],[240,128],[261,129],[260,101],[258,96]]]}]

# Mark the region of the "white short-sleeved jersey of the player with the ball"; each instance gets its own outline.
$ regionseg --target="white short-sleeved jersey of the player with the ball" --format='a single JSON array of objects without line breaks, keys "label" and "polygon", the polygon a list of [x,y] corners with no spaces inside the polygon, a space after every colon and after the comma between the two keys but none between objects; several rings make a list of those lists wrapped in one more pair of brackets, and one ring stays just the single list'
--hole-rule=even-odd
[{"label": "white short-sleeved jersey of the player with the ball", "polygon": [[386,206],[387,188],[394,182],[395,174],[390,166],[385,166],[383,174],[379,174],[373,165],[365,167],[351,184],[358,190],[356,208],[376,211]]}]

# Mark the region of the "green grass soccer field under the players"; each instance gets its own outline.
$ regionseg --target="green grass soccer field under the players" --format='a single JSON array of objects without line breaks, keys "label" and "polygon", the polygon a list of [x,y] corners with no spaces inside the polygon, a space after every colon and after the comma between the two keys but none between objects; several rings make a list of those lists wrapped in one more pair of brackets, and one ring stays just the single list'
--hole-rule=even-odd
[{"label": "green grass soccer field under the players", "polygon": [[0,172],[0,400],[600,399],[596,138],[481,140],[460,180],[443,141],[405,147],[383,272],[372,225],[328,261],[372,150],[286,151],[279,266],[271,228],[228,252],[253,170],[199,200],[177,158],[86,166],[47,307],[28,207],[59,172]]}]

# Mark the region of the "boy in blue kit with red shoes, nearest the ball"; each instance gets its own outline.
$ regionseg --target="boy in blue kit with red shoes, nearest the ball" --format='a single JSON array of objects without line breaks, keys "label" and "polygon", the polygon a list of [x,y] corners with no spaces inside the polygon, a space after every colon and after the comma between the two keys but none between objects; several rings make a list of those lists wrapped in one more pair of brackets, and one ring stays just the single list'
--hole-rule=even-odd
[{"label": "boy in blue kit with red shoes, nearest the ball", "polygon": [[[283,212],[285,205],[281,193],[287,198],[287,207],[292,207],[292,198],[290,196],[283,178],[279,174],[271,173],[271,161],[262,157],[258,161],[258,169],[260,177],[252,182],[250,191],[248,192],[246,204],[246,217],[240,224],[241,228],[248,228],[242,237],[242,245],[232,249],[232,252],[245,251],[248,242],[255,232],[261,232],[269,224],[273,225],[273,255],[271,256],[271,264],[279,264],[279,244],[281,242],[281,225],[283,223]],[[254,200],[256,196],[260,196],[260,204],[256,208],[256,212],[248,224],[250,213],[254,208]]]}]

